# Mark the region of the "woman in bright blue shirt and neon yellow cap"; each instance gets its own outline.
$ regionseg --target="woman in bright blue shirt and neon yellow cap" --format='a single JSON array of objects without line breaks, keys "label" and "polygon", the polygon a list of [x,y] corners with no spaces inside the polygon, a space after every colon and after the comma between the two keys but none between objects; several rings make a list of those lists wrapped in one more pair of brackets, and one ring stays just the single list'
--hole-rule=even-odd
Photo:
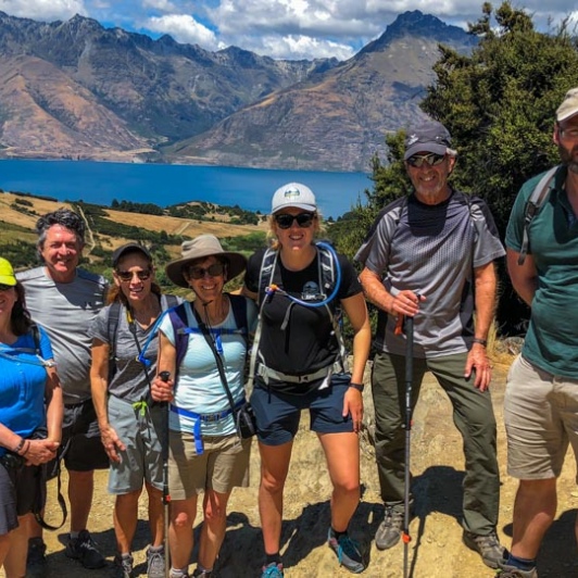
[{"label": "woman in bright blue shirt and neon yellow cap", "polygon": [[60,444],[62,390],[51,360],[47,335],[26,311],[24,288],[0,257],[0,566],[7,576],[26,574],[22,518],[43,506],[40,466]]}]

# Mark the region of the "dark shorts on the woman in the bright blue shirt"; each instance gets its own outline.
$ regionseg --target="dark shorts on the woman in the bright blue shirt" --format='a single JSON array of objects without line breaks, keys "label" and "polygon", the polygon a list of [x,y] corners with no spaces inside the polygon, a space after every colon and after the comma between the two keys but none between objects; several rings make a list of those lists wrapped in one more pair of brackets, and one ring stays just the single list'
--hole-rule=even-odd
[{"label": "dark shorts on the woman in the bright blue shirt", "polygon": [[38,503],[38,492],[46,500],[46,491],[39,488],[46,485],[41,466],[24,466],[17,469],[0,465],[0,536],[18,527],[18,516],[24,516],[41,507]]}]

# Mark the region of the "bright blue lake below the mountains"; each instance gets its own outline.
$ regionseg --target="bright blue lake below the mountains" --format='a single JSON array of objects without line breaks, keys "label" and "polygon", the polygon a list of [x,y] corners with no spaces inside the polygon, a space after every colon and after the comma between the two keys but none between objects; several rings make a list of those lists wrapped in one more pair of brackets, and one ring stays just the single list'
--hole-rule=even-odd
[{"label": "bright blue lake below the mountains", "polygon": [[160,206],[186,201],[239,205],[268,213],[281,185],[303,183],[315,192],[324,217],[338,217],[373,188],[364,173],[269,171],[226,166],[191,166],[85,161],[0,161],[0,188],[110,205],[117,201]]}]

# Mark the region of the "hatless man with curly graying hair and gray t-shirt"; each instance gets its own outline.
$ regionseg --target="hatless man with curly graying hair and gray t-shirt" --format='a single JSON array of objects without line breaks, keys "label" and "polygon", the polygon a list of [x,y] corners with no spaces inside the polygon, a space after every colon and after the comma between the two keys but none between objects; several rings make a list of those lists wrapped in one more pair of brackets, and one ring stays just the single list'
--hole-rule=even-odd
[{"label": "hatless man with curly graying hair and gray t-shirt", "polygon": [[[67,209],[40,217],[37,249],[43,265],[17,275],[33,319],[50,337],[64,397],[62,443],[68,470],[71,539],[66,555],[85,568],[100,568],[105,560],[87,530],[92,504],[95,469],[108,468],[90,397],[88,327],[104,305],[106,281],[78,268],[85,244],[84,221]],[[32,523],[27,575],[46,574],[41,528]]]}]

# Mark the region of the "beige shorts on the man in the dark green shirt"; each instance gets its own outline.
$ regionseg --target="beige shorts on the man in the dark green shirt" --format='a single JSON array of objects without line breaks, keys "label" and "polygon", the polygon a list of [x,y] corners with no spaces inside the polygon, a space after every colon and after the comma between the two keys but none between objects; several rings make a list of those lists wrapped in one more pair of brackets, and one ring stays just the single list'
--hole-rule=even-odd
[{"label": "beige shorts on the man in the dark green shirt", "polygon": [[568,443],[578,456],[578,380],[518,355],[507,374],[504,423],[507,473],[527,480],[558,477]]}]

